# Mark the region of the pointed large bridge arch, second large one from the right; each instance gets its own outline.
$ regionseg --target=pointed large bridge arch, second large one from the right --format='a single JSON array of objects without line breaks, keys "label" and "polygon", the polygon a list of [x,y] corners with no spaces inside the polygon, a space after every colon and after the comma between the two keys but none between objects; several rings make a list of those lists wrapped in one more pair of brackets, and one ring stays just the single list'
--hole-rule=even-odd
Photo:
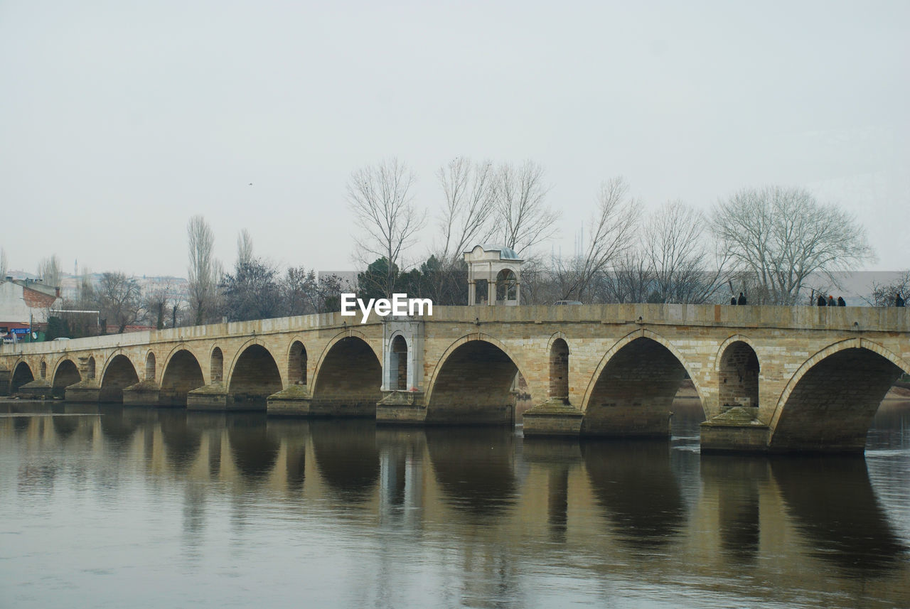
[{"label": "pointed large bridge arch, second large one from the right", "polygon": [[670,407],[688,374],[704,408],[701,387],[682,354],[662,335],[642,328],[604,354],[581,403],[581,434],[667,437]]}]

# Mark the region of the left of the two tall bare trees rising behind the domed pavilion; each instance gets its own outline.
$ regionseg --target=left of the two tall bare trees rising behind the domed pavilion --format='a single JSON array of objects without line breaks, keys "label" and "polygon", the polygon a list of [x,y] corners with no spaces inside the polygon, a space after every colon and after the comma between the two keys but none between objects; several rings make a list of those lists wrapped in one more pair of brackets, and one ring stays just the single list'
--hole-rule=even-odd
[{"label": "left of the two tall bare trees rising behind the domed pavilion", "polygon": [[440,167],[436,176],[446,197],[437,258],[454,265],[461,262],[468,247],[486,243],[496,231],[492,215],[496,210],[497,175],[490,162],[475,164],[459,157]]}]

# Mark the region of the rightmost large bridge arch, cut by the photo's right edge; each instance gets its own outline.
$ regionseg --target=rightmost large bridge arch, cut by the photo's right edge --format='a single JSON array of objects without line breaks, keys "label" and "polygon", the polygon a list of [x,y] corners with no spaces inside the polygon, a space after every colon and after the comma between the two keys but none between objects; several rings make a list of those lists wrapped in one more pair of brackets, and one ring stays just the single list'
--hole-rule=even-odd
[{"label": "rightmost large bridge arch, cut by the photo's right edge", "polygon": [[775,452],[858,452],[885,394],[910,364],[864,338],[830,344],[790,378],[771,418]]}]

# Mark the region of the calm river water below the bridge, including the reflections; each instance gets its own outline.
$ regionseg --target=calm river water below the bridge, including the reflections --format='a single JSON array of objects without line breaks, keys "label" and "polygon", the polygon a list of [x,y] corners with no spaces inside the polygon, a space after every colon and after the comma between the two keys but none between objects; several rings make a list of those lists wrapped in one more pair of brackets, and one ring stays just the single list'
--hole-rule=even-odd
[{"label": "calm river water below the bridge, including the reflections", "polygon": [[864,457],[0,403],[0,607],[908,607],[910,403]]}]

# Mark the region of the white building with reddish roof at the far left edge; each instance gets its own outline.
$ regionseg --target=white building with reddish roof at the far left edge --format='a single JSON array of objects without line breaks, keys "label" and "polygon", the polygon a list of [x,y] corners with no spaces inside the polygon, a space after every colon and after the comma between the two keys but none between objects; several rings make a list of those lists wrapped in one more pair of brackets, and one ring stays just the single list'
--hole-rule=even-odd
[{"label": "white building with reddish roof at the far left edge", "polygon": [[0,335],[11,340],[13,334],[44,330],[50,309],[62,302],[57,286],[6,277],[0,282]]}]

